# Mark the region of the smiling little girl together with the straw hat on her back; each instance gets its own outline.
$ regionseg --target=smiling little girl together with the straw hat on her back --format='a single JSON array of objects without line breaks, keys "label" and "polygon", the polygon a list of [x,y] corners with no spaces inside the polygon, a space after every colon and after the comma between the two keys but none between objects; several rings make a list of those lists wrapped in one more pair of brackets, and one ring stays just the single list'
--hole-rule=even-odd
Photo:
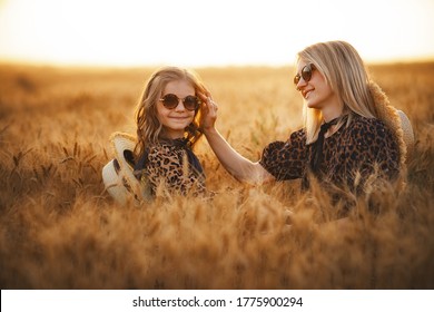
[{"label": "smiling little girl together with the straw hat on her back", "polygon": [[201,100],[207,92],[193,72],[177,67],[156,71],[136,109],[137,138],[111,136],[116,157],[102,169],[107,192],[120,204],[156,196],[205,194],[203,167],[193,153],[201,136]]}]

